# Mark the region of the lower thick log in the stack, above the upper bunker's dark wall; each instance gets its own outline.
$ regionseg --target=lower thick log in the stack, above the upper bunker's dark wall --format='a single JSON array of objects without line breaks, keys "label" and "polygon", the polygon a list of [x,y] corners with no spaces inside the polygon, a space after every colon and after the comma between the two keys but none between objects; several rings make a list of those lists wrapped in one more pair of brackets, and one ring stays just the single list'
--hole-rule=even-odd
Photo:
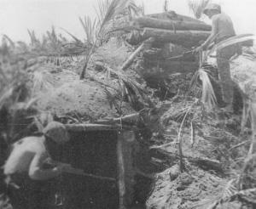
[{"label": "lower thick log in the stack, above the upper bunker's dark wall", "polygon": [[155,42],[172,42],[186,48],[199,46],[206,41],[211,32],[208,31],[167,31],[161,29],[145,28],[142,33],[143,40],[154,37]]}]

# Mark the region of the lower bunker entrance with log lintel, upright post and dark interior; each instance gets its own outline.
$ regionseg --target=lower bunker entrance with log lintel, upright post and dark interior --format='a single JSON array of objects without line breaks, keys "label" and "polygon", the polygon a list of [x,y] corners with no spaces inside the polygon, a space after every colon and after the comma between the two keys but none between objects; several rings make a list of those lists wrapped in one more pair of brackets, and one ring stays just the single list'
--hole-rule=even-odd
[{"label": "lower bunker entrance with log lintel, upright post and dark interior", "polygon": [[126,208],[133,201],[131,127],[101,124],[66,125],[71,140],[55,151],[56,161],[71,164],[89,176],[65,173],[61,186],[67,208]]}]

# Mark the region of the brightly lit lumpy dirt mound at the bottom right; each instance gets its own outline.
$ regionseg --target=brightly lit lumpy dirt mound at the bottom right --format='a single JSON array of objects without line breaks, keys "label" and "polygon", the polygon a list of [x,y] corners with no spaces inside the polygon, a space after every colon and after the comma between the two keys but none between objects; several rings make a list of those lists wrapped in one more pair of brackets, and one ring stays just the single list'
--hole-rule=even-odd
[{"label": "brightly lit lumpy dirt mound at the bottom right", "polygon": [[[161,172],[154,184],[153,194],[148,198],[147,208],[208,208],[226,186],[222,178],[201,169],[183,172],[171,181],[169,170]],[[217,208],[241,208],[241,203],[231,202]],[[210,207],[209,207],[210,208]]]}]

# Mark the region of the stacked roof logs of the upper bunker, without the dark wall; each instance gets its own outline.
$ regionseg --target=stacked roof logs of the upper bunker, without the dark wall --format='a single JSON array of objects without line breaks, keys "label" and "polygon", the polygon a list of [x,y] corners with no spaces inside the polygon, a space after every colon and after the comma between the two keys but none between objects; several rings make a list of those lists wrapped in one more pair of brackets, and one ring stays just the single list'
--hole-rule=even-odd
[{"label": "stacked roof logs of the upper bunker, without the dark wall", "polygon": [[140,42],[154,37],[155,42],[172,42],[186,48],[200,45],[210,36],[212,26],[200,20],[169,11],[164,14],[150,14],[131,21],[130,25],[140,28],[132,31],[127,42],[137,45]]}]

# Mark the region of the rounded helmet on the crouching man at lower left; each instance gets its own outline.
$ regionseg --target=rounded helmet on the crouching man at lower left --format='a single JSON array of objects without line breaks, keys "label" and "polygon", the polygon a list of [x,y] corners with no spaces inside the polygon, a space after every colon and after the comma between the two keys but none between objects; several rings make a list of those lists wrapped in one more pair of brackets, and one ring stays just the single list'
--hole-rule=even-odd
[{"label": "rounded helmet on the crouching man at lower left", "polygon": [[65,143],[69,140],[67,129],[61,122],[49,122],[49,124],[44,127],[43,133],[45,136],[55,140],[58,144]]}]

